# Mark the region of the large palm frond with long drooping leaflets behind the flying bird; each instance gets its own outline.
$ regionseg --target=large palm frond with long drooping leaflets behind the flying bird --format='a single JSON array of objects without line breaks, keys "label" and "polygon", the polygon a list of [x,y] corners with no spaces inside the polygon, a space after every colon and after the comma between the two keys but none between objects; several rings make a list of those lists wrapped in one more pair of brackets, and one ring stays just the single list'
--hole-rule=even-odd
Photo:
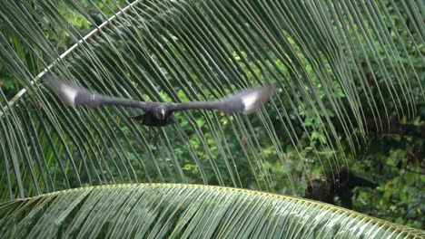
[{"label": "large palm frond with long drooping leaflets behind the flying bird", "polygon": [[[0,100],[4,199],[120,182],[247,186],[241,180],[245,170],[257,188],[272,191],[276,178],[264,167],[270,160],[282,162],[295,191],[282,146],[290,139],[295,151],[301,150],[294,123],[306,132],[323,132],[324,139],[314,147],[329,150],[341,148],[338,124],[354,150],[361,139],[352,130],[364,124],[365,111],[380,126],[390,117],[414,115],[417,99],[411,86],[425,96],[410,59],[423,53],[423,24],[414,10],[420,1],[136,1],[60,61],[54,48],[61,43],[59,33],[79,39],[64,12],[84,11],[74,1],[71,6],[35,2],[0,4],[0,24],[7,29],[0,33],[0,57],[26,89],[11,101]],[[409,14],[416,34],[400,35],[390,17],[400,12]],[[146,139],[147,129],[127,119],[135,111],[69,108],[58,102],[43,81],[33,79],[34,71],[10,44],[11,37],[30,47],[40,70],[50,67],[68,81],[105,94],[213,100],[269,81],[278,84],[280,93],[253,116],[184,113],[162,129],[153,145]],[[372,72],[372,65],[379,72]],[[371,91],[372,85],[379,91]],[[367,105],[359,104],[361,95],[368,98]],[[385,108],[388,100],[394,102],[391,109]],[[309,129],[303,122],[307,114],[316,120]],[[272,121],[283,131],[274,129]],[[273,153],[266,156],[265,151]],[[322,160],[340,167],[343,159],[332,155]],[[246,160],[250,168],[242,168],[238,160]],[[186,165],[196,173],[188,174]]]}]

